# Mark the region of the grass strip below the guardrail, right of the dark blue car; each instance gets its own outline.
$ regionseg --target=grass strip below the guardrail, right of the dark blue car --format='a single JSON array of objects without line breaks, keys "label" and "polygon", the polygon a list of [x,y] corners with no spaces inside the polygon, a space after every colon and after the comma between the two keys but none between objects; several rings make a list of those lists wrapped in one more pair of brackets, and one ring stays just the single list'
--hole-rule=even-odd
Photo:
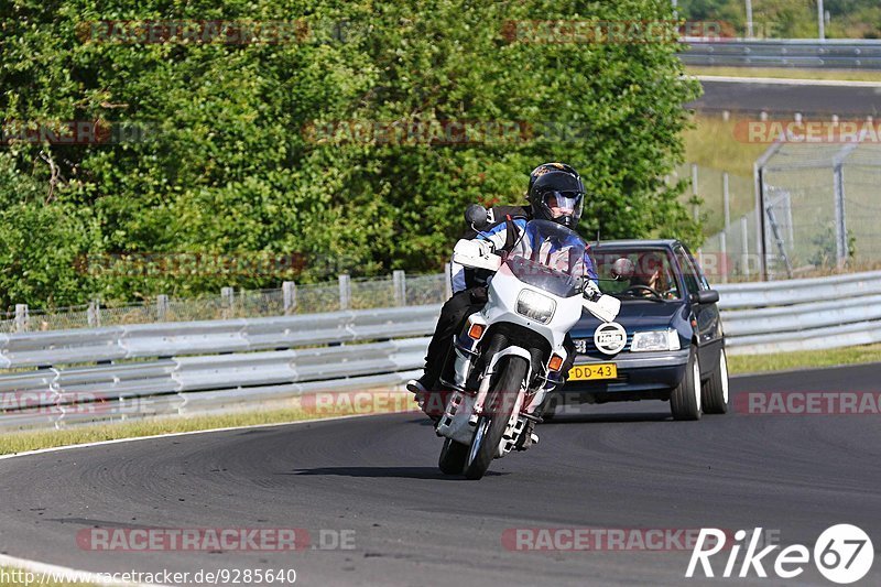
[{"label": "grass strip below the guardrail, right of the dark blue car", "polygon": [[742,374],[867,362],[881,362],[881,345],[775,355],[738,355],[728,357],[728,370],[732,374]]}]

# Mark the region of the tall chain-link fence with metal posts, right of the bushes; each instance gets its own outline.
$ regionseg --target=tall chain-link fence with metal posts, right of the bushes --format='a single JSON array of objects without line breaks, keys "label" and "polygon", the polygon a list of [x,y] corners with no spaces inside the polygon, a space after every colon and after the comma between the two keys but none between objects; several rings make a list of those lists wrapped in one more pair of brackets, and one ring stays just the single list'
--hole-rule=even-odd
[{"label": "tall chain-link fence with metal posts, right of the bushes", "polygon": [[[779,142],[757,162],[753,207],[708,237],[733,281],[797,278],[881,263],[881,144]],[[726,280],[726,281],[727,281]]]}]

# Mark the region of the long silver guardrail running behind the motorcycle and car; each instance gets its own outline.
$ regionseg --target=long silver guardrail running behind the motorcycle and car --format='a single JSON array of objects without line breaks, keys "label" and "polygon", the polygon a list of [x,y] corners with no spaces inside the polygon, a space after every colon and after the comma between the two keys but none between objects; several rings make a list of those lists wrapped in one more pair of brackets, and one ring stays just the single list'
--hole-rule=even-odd
[{"label": "long silver guardrail running behind the motorcycle and car", "polygon": [[[881,271],[720,285],[731,354],[881,341]],[[186,414],[415,376],[439,305],[0,335],[0,428]],[[90,365],[84,365],[90,363]]]}]

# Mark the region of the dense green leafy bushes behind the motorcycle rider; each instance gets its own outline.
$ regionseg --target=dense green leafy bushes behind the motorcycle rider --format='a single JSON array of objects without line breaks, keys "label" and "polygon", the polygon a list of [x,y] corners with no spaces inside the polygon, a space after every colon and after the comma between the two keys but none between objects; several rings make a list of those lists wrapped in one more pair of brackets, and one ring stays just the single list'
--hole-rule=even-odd
[{"label": "dense green leafy bushes behind the motorcycle rider", "polygon": [[[697,244],[699,230],[676,202],[681,186],[663,182],[683,153],[682,105],[697,94],[681,78],[676,45],[507,33],[524,20],[671,14],[666,0],[8,1],[0,120],[31,128],[100,121],[142,135],[7,148],[0,302],[121,302],[233,282],[316,281],[338,270],[436,271],[466,204],[520,202],[529,171],[548,160],[581,171],[586,233]],[[98,42],[94,24],[220,19],[295,20],[298,33],[308,32],[281,43],[118,43]],[[508,123],[516,132],[365,142],[347,139],[349,121]],[[84,254],[181,252],[272,252],[305,263],[244,278],[75,269]]]}]

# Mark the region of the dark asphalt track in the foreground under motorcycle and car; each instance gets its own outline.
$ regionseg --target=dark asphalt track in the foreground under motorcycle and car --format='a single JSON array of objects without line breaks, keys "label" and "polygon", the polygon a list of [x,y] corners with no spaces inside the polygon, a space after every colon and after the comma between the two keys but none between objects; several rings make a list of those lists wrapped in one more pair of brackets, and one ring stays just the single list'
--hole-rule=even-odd
[{"label": "dark asphalt track in the foreground under motorcycle and car", "polygon": [[[738,378],[732,392],[878,392],[879,374],[881,365]],[[0,460],[0,552],[93,572],[294,568],[302,585],[704,585],[720,579],[684,579],[685,550],[516,552],[502,535],[518,528],[761,526],[813,550],[824,529],[847,522],[881,550],[879,415],[673,422],[662,402],[585,406],[584,414],[540,426],[537,447],[497,460],[481,481],[440,475],[440,441],[414,414]],[[324,530],[355,547],[78,546],[77,533],[96,526],[298,528],[314,544]],[[726,584],[833,585],[807,568],[790,581],[752,573]],[[875,557],[861,584],[879,581]]]}]

